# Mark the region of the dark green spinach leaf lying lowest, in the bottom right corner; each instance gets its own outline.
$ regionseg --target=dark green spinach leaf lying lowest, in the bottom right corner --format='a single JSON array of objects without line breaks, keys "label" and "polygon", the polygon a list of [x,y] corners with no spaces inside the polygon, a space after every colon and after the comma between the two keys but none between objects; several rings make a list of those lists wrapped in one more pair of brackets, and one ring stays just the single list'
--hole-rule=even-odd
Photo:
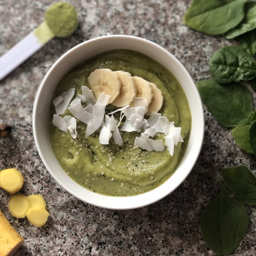
[{"label": "dark green spinach leaf lying lowest, in the bottom right corner", "polygon": [[249,224],[244,204],[227,194],[220,194],[203,211],[200,226],[209,248],[218,255],[233,253],[242,241]]}]

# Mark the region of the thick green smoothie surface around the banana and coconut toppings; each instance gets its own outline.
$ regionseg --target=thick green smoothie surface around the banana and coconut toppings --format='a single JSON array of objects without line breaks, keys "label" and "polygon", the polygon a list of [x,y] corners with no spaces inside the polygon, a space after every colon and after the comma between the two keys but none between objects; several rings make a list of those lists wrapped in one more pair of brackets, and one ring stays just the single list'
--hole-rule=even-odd
[{"label": "thick green smoothie surface around the banana and coconut toppings", "polygon": [[[148,152],[133,146],[136,132],[122,133],[123,146],[99,143],[99,132],[85,138],[86,124],[77,121],[78,137],[72,139],[51,124],[51,141],[57,160],[64,171],[81,186],[95,193],[128,196],[155,189],[175,171],[187,147],[191,129],[191,115],[186,96],[168,69],[151,58],[134,51],[115,50],[100,54],[68,72],[56,88],[55,96],[74,87],[81,94],[81,86],[88,86],[87,77],[96,68],[124,70],[153,82],[164,96],[160,110],[175,126],[182,128],[184,142],[175,147],[173,157],[164,152]],[[75,96],[74,96],[75,97]],[[107,112],[113,109],[108,105]],[[52,116],[54,108],[52,107]],[[66,110],[64,115],[72,115]],[[115,114],[119,119],[120,113]],[[163,139],[156,135],[154,139]]]}]

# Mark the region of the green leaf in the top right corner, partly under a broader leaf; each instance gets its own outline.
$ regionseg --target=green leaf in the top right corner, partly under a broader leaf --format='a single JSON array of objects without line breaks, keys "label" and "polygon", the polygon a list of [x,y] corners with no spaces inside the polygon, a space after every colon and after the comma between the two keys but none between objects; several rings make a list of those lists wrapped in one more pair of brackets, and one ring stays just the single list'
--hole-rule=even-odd
[{"label": "green leaf in the top right corner, partly under a broader leaf", "polygon": [[232,39],[256,28],[256,2],[247,2],[245,4],[245,15],[241,23],[235,28],[229,30],[225,37]]}]

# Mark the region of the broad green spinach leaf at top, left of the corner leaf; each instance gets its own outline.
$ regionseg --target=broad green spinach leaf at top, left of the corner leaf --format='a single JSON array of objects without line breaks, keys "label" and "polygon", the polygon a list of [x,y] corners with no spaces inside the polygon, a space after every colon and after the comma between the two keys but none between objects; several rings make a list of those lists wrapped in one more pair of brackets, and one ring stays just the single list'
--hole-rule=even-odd
[{"label": "broad green spinach leaf at top, left of the corner leaf", "polygon": [[246,0],[193,0],[183,21],[205,34],[223,34],[244,17]]}]

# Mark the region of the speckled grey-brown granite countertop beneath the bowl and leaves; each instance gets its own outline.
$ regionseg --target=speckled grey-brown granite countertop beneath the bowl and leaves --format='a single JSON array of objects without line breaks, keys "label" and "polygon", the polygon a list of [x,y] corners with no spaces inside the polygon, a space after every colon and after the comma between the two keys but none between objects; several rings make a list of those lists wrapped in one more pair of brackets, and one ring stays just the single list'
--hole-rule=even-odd
[{"label": "speckled grey-brown granite countertop beneath the bowl and leaves", "polygon": [[[0,0],[0,55],[42,21],[50,0]],[[85,40],[128,34],[152,40],[174,54],[194,81],[209,78],[208,61],[228,40],[197,33],[182,23],[189,0],[72,0],[80,24],[69,38],[54,38],[0,81],[0,123],[13,126],[0,139],[0,169],[17,168],[25,177],[22,193],[40,193],[50,217],[36,228],[10,215],[10,195],[0,190],[0,209],[25,238],[17,256],[37,255],[213,255],[202,238],[202,210],[222,187],[220,171],[239,164],[256,170],[255,158],[238,148],[230,129],[204,106],[202,152],[189,177],[171,195],[134,210],[100,209],[62,189],[49,175],[35,147],[32,108],[36,90],[54,61]],[[256,95],[254,94],[254,103]],[[234,255],[256,255],[256,208],[247,207],[249,228]]]}]

